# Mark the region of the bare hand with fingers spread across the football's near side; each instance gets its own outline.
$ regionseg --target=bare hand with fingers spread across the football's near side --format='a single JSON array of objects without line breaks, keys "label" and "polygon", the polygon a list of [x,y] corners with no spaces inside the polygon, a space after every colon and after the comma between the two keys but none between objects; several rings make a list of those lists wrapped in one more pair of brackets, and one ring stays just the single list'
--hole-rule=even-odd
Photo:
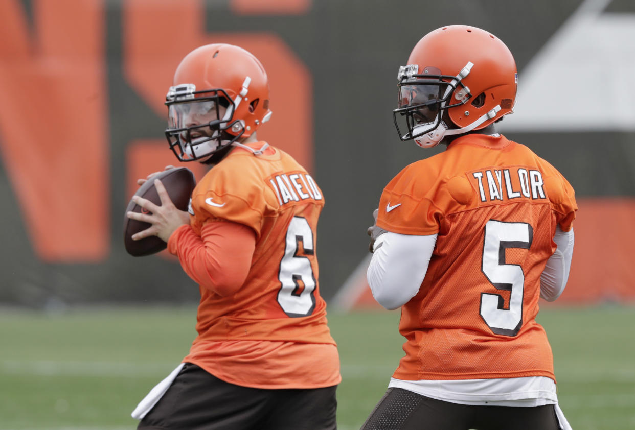
[{"label": "bare hand with fingers spread across the football's near side", "polygon": [[128,212],[126,216],[152,225],[149,228],[132,235],[132,240],[140,240],[149,236],[158,236],[165,242],[168,242],[168,239],[174,230],[177,230],[178,227],[184,224],[190,223],[190,215],[185,211],[177,209],[177,207],[172,203],[172,200],[170,200],[168,192],[166,192],[165,187],[159,179],[154,179],[154,186],[156,187],[159,199],[161,199],[160,206],[150,202],[150,200],[136,195],[132,198],[133,201],[145,209],[147,213]]}]

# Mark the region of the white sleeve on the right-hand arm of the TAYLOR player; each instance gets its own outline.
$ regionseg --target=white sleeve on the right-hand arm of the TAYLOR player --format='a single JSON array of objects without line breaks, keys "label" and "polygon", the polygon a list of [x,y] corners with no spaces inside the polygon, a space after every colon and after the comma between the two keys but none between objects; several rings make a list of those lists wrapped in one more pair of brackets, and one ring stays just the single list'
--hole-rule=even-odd
[{"label": "white sleeve on the right-hand arm of the TAYLOR player", "polygon": [[565,290],[573,256],[573,228],[562,231],[560,226],[556,226],[554,242],[557,245],[556,252],[549,257],[540,275],[540,297],[550,302],[558,299]]}]

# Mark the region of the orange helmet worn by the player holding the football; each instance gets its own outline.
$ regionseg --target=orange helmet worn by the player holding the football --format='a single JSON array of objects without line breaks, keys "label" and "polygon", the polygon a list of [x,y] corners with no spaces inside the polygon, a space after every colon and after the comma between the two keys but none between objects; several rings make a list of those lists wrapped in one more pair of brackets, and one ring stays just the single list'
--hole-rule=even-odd
[{"label": "orange helmet worn by the player holding the football", "polygon": [[201,46],[178,65],[165,104],[171,150],[181,161],[204,162],[269,121],[267,72],[238,46]]}]

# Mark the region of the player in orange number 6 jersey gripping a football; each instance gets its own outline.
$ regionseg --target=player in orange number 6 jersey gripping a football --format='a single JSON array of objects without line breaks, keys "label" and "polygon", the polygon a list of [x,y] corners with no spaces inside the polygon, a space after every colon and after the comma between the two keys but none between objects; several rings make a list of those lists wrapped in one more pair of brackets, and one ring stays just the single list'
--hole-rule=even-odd
[{"label": "player in orange number 6 jersey gripping a football", "polygon": [[339,358],[316,257],[324,198],[256,136],[271,117],[267,74],[248,51],[210,44],[185,56],[173,83],[170,148],[211,169],[189,214],[156,181],[161,205],[138,199],[151,214],[128,216],[151,224],[135,240],[163,238],[199,284],[198,336],[133,412],[138,428],[335,429]]}]

